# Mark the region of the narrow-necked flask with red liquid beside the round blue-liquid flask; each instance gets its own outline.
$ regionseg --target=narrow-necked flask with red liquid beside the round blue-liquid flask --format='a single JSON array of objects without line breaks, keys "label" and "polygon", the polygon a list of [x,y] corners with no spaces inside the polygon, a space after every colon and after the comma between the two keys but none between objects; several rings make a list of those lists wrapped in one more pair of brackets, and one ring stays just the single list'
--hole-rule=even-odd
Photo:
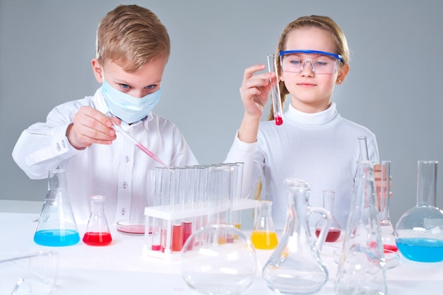
[{"label": "narrow-necked flask with red liquid beside the round blue-liquid flask", "polygon": [[389,204],[391,195],[391,161],[381,161],[380,175],[380,229],[383,248],[396,252],[396,236],[394,235],[393,225],[389,217]]}]

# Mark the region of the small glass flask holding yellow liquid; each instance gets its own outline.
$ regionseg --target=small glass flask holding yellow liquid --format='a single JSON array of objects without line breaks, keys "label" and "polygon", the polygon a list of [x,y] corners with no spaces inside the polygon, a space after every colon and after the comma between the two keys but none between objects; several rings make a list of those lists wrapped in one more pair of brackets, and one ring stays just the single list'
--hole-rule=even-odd
[{"label": "small glass flask holding yellow liquid", "polygon": [[255,212],[255,223],[251,234],[251,242],[255,249],[271,250],[277,247],[277,233],[272,222],[272,202],[260,201]]}]

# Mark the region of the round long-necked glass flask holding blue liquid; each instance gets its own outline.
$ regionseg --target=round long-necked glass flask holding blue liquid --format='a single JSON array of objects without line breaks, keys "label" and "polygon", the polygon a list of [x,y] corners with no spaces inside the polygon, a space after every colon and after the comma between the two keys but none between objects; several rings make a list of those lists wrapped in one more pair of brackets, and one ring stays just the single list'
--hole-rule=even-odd
[{"label": "round long-necked glass flask holding blue liquid", "polygon": [[443,260],[443,210],[435,205],[438,161],[418,161],[417,204],[396,225],[398,250],[409,260]]}]

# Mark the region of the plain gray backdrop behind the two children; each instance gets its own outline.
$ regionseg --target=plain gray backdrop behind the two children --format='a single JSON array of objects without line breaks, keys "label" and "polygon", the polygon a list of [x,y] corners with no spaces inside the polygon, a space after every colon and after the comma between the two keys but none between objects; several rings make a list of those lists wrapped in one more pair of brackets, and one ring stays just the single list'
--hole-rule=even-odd
[{"label": "plain gray backdrop behind the two children", "polygon": [[[28,179],[13,146],[55,105],[99,87],[91,71],[96,26],[120,3],[150,8],[168,28],[171,58],[154,111],[178,125],[200,163],[224,161],[243,116],[246,66],[265,63],[284,26],[309,14],[328,15],[345,31],[351,70],[333,100],[376,134],[381,159],[392,161],[394,224],[415,205],[417,161],[442,159],[439,0],[0,0],[0,199],[45,199],[47,180]],[[437,206],[442,190],[440,173]]]}]

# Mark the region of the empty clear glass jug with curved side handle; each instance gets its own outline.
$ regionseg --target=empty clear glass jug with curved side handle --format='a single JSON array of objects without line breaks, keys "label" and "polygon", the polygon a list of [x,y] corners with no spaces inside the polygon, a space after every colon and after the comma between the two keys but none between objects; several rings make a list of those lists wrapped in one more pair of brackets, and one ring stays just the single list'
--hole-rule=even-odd
[{"label": "empty clear glass jug with curved side handle", "polygon": [[[320,251],[330,225],[330,213],[320,207],[309,207],[309,183],[287,178],[287,220],[283,236],[263,267],[267,286],[277,293],[311,294],[328,281],[328,270],[320,259]],[[309,230],[308,219],[319,213],[328,220],[316,242]]]}]

